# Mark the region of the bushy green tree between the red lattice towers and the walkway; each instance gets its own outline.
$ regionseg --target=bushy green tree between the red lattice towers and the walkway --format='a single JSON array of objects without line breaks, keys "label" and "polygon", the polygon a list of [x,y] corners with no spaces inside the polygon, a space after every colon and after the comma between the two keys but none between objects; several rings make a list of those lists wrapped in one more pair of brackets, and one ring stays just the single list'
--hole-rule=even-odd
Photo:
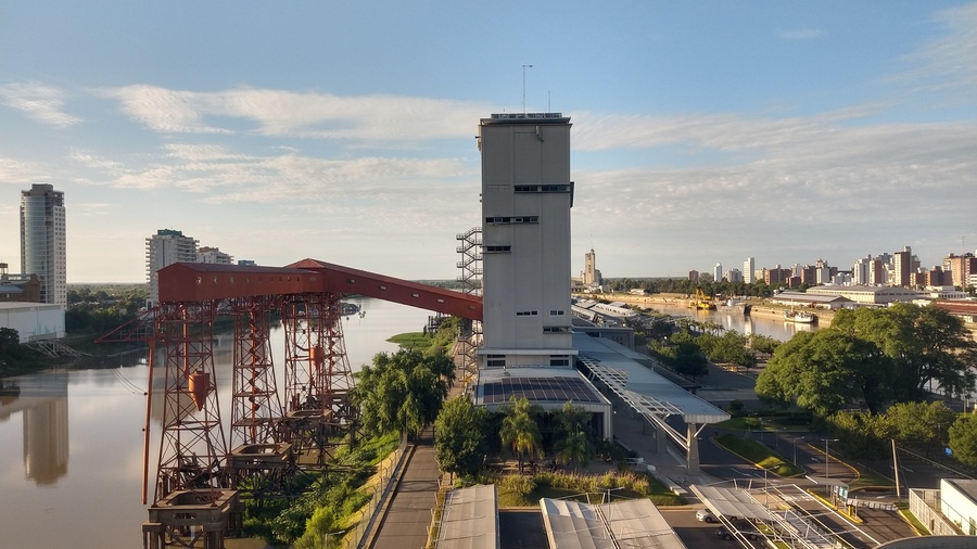
[{"label": "bushy green tree between the red lattice towers and the walkway", "polygon": [[413,436],[437,418],[454,379],[454,363],[443,353],[378,353],[357,374],[352,398],[368,433],[404,430]]}]

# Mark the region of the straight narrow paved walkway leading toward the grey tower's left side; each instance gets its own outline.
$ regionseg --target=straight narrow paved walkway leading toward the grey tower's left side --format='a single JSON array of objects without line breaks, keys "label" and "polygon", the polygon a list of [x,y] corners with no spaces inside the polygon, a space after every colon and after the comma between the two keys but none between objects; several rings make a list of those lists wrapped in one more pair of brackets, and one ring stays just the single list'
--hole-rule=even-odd
[{"label": "straight narrow paved walkway leading toward the grey tower's left side", "polygon": [[375,549],[417,549],[428,541],[439,481],[434,430],[426,429],[404,464],[393,498],[380,520]]}]

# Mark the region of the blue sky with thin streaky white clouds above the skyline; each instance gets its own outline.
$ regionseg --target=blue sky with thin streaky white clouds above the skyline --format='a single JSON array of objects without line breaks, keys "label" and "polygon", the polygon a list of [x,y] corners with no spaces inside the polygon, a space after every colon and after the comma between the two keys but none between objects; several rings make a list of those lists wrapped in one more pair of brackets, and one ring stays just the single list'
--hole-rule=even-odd
[{"label": "blue sky with thin streaky white clouds above the skyline", "polygon": [[10,0],[0,261],[64,192],[68,283],[176,229],[454,279],[480,118],[570,116],[572,274],[977,248],[977,3]]}]

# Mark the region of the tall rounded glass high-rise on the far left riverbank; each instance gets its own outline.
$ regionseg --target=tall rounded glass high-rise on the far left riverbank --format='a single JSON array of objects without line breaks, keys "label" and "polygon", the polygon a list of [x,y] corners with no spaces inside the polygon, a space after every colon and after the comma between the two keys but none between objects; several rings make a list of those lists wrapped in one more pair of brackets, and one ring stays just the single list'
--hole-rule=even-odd
[{"label": "tall rounded glass high-rise on the far left riverbank", "polygon": [[21,273],[37,274],[40,303],[67,305],[64,193],[35,183],[21,191]]}]

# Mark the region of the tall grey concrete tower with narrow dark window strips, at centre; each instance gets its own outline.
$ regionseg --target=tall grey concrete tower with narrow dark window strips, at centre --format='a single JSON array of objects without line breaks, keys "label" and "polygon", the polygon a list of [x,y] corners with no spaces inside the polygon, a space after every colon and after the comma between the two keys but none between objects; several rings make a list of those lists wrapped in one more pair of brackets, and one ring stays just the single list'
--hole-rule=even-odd
[{"label": "tall grey concrete tower with narrow dark window strips, at centre", "polygon": [[482,368],[572,366],[570,118],[493,114],[482,152]]}]

